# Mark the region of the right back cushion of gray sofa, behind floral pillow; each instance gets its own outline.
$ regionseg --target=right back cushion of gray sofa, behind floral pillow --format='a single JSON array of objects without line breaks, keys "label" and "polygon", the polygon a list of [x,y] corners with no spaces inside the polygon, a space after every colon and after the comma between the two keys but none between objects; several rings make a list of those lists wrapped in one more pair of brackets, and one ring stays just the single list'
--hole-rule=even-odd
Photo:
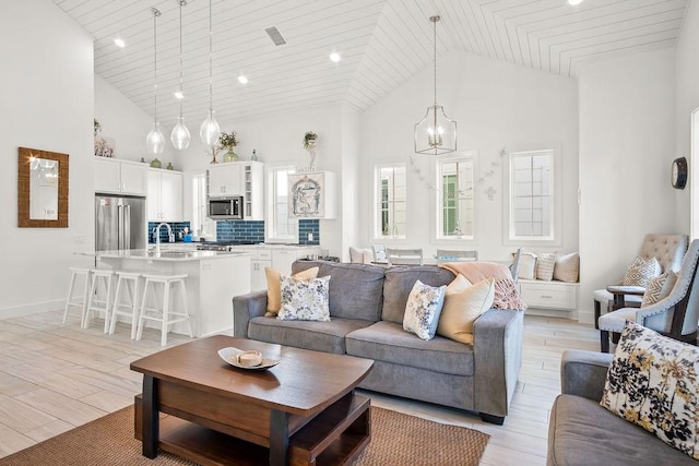
[{"label": "right back cushion of gray sofa, behind floral pillow", "polygon": [[455,275],[450,271],[434,265],[399,265],[386,268],[381,320],[403,324],[405,304],[415,282],[420,280],[429,286],[442,286],[449,285],[454,277]]}]

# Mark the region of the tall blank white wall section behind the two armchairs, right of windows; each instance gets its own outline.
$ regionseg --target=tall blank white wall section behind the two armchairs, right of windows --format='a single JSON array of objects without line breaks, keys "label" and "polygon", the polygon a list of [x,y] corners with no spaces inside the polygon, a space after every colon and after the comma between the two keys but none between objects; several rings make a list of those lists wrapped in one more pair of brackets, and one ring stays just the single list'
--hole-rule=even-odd
[{"label": "tall blank white wall section behind the two armchairs, right of windows", "polygon": [[648,232],[676,229],[674,53],[654,50],[580,68],[581,322],[592,291],[624,277]]}]

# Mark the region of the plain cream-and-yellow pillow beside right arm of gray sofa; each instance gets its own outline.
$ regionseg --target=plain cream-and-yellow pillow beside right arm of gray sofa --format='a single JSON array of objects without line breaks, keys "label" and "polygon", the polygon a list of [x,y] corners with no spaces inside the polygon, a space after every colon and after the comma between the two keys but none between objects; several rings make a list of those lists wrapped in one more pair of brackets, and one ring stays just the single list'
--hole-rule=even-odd
[{"label": "plain cream-and-yellow pillow beside right arm of gray sofa", "polygon": [[493,307],[495,279],[484,279],[471,286],[464,282],[469,283],[459,275],[447,287],[437,334],[470,345],[473,343],[473,323]]}]

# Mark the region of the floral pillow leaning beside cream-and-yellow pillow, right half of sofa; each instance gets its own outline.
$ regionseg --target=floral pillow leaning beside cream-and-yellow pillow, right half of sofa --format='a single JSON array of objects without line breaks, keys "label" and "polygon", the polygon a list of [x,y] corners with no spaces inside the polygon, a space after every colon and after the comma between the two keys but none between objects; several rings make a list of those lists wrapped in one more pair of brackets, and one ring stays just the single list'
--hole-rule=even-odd
[{"label": "floral pillow leaning beside cream-and-yellow pillow, right half of sofa", "polygon": [[439,324],[446,290],[447,285],[434,287],[416,280],[405,304],[403,330],[422,339],[433,339]]}]

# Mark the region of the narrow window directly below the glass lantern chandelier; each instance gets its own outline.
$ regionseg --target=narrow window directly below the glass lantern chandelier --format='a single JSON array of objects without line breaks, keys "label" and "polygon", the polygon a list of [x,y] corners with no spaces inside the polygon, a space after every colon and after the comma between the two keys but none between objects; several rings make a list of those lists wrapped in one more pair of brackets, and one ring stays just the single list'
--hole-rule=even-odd
[{"label": "narrow window directly below the glass lantern chandelier", "polygon": [[437,238],[473,238],[473,158],[437,162]]}]

